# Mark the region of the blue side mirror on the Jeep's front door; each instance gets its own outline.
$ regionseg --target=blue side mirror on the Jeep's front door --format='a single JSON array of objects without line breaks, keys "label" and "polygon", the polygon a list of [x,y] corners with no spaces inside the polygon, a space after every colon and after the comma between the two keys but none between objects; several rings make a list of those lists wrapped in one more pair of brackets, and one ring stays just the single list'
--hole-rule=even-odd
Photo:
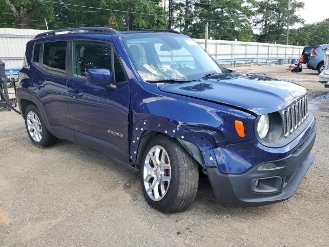
[{"label": "blue side mirror on the Jeep's front door", "polygon": [[112,72],[107,68],[87,68],[86,80],[89,85],[108,85],[112,83]]}]

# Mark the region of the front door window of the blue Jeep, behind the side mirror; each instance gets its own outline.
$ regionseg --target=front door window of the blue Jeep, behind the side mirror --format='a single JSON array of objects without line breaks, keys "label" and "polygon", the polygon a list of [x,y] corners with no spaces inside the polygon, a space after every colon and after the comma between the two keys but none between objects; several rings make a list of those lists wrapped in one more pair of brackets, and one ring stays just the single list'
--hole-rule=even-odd
[{"label": "front door window of the blue Jeep, behind the side mirror", "polygon": [[85,78],[86,68],[111,66],[112,46],[107,42],[73,41],[73,72],[75,78]]}]

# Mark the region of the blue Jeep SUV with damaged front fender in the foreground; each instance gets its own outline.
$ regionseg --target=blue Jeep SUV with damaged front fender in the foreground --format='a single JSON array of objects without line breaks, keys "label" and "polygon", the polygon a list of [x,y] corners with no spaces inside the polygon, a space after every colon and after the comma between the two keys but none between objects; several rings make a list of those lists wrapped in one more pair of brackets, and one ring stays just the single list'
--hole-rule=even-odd
[{"label": "blue Jeep SUV with damaged front fender in the foreground", "polygon": [[36,146],[66,139],[140,169],[146,200],[165,213],[193,203],[199,173],[223,204],[283,201],[314,161],[304,87],[226,69],[176,31],[41,33],[19,77]]}]

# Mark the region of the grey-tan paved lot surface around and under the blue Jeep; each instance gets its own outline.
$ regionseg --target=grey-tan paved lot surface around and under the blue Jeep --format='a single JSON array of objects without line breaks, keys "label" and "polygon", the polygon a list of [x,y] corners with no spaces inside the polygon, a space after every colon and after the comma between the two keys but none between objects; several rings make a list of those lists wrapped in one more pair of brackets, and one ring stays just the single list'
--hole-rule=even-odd
[{"label": "grey-tan paved lot surface around and under the blue Jeep", "polygon": [[305,86],[317,118],[315,163],[289,200],[227,208],[200,184],[184,213],[150,207],[138,174],[66,141],[30,142],[20,115],[0,110],[0,246],[328,246],[329,92],[315,71],[239,67]]}]

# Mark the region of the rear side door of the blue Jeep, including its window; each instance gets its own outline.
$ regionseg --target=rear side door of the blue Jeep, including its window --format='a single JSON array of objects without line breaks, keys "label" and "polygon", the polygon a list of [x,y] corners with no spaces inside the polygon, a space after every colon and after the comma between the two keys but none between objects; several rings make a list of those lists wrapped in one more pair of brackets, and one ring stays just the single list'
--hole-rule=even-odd
[{"label": "rear side door of the blue Jeep, including its window", "polygon": [[36,69],[30,88],[39,98],[49,126],[72,128],[66,96],[68,46],[67,41],[34,45],[33,63]]}]

